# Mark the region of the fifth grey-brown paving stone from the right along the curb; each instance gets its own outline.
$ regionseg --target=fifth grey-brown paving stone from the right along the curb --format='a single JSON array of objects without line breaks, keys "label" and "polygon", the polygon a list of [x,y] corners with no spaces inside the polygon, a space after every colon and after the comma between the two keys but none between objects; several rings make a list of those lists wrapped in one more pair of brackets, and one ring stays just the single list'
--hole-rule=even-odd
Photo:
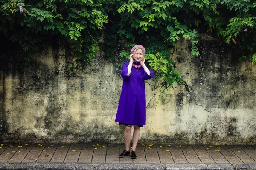
[{"label": "fifth grey-brown paving stone from the right along the curb", "polygon": [[189,164],[201,164],[192,146],[180,147]]}]

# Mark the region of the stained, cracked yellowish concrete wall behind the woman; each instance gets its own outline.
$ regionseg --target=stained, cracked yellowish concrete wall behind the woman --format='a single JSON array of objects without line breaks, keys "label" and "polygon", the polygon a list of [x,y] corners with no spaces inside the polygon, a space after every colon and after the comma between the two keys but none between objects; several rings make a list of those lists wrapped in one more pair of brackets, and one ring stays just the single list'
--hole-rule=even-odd
[{"label": "stained, cracked yellowish concrete wall behind the woman", "polygon": [[[221,40],[202,37],[199,57],[180,40],[173,55],[184,85],[166,91],[159,105],[155,79],[145,81],[147,125],[139,142],[256,144],[256,65],[239,62]],[[122,88],[116,60],[103,51],[92,66],[77,64],[65,48],[45,47],[29,63],[11,58],[0,69],[0,141],[123,142],[114,122]],[[3,67],[5,66],[5,68]]]}]

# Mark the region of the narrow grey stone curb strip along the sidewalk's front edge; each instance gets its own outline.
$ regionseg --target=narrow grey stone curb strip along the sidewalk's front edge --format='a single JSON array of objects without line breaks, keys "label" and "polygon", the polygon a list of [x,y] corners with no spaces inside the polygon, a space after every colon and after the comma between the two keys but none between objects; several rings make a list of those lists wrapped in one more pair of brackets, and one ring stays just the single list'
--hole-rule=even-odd
[{"label": "narrow grey stone curb strip along the sidewalk's front edge", "polygon": [[256,170],[256,164],[0,163],[0,170]]}]

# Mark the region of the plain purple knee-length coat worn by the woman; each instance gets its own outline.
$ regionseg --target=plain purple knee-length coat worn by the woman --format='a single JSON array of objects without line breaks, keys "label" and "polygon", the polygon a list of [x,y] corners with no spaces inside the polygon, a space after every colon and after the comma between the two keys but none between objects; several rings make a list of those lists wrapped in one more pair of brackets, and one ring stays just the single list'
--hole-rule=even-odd
[{"label": "plain purple knee-length coat worn by the woman", "polygon": [[[135,65],[140,62],[134,61]],[[131,67],[131,74],[127,76],[129,62],[122,65],[121,76],[123,86],[120,95],[119,105],[116,113],[116,122],[146,125],[146,94],[144,80],[154,77],[154,72],[150,71],[150,76],[143,67],[137,69]]]}]

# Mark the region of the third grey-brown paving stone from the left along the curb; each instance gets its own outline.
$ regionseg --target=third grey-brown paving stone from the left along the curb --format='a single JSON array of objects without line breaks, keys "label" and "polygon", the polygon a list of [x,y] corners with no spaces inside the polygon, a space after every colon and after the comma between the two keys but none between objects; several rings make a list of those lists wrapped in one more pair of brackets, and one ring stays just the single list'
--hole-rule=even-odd
[{"label": "third grey-brown paving stone from the left along the curb", "polygon": [[44,152],[44,144],[35,144],[26,157],[23,159],[22,163],[34,163],[37,161],[38,157]]}]

